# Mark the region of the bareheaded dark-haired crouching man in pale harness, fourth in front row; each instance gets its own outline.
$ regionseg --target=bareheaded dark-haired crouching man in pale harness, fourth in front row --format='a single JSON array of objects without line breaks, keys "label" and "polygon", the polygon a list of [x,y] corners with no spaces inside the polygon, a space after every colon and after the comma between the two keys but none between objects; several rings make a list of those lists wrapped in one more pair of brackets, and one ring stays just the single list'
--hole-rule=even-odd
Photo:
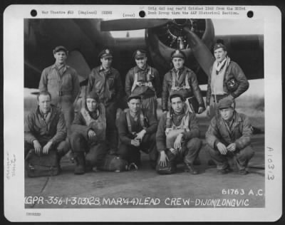
[{"label": "bareheaded dark-haired crouching man in pale harness, fourth in front row", "polygon": [[186,172],[198,174],[193,167],[202,145],[197,118],[189,110],[185,111],[182,95],[170,95],[170,104],[170,112],[162,115],[156,133],[157,150],[160,152],[157,172],[174,173],[177,163],[184,162]]}]

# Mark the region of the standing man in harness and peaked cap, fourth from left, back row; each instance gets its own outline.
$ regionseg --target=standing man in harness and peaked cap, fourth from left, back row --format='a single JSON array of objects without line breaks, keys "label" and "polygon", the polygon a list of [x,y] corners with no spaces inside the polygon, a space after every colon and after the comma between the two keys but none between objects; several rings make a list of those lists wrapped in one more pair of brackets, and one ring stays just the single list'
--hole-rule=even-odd
[{"label": "standing man in harness and peaked cap, fourth from left, back row", "polygon": [[205,109],[204,100],[195,73],[184,66],[185,53],[177,49],[171,53],[171,58],[174,67],[165,74],[163,80],[162,111],[168,111],[168,97],[179,93],[185,100],[195,96],[199,104],[198,113],[202,113]]}]

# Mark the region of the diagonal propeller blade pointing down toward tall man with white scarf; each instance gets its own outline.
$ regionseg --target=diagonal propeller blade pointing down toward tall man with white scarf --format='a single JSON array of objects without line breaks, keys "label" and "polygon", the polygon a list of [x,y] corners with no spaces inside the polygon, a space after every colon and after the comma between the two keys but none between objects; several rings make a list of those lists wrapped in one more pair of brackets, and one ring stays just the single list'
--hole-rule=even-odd
[{"label": "diagonal propeller blade pointing down toward tall man with white scarf", "polygon": [[190,30],[190,28],[185,27],[184,29],[187,31],[187,43],[192,49],[193,55],[204,72],[210,76],[209,68],[211,68],[214,63],[214,56],[209,51],[209,48],[205,46],[203,41],[201,41],[201,39]]}]

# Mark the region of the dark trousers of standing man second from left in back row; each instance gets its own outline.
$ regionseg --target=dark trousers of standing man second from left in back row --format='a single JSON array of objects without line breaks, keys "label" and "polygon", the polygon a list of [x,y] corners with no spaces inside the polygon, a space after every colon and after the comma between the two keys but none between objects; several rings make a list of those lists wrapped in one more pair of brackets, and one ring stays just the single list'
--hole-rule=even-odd
[{"label": "dark trousers of standing man second from left in back row", "polygon": [[108,148],[117,152],[118,150],[118,130],[115,125],[115,117],[117,113],[117,104],[108,103],[105,105],[106,113],[106,140],[108,143]]}]

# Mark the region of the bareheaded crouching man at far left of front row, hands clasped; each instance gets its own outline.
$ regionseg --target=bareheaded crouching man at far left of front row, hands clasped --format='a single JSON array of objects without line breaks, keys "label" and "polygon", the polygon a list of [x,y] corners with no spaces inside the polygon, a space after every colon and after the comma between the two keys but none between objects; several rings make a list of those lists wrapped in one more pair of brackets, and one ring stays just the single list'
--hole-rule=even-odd
[{"label": "bareheaded crouching man at far left of front row, hands clasped", "polygon": [[25,158],[30,150],[37,155],[48,155],[56,151],[58,166],[65,155],[63,146],[66,139],[66,122],[63,113],[55,105],[51,105],[51,93],[41,91],[38,96],[38,108],[28,114],[25,122],[24,150]]}]

